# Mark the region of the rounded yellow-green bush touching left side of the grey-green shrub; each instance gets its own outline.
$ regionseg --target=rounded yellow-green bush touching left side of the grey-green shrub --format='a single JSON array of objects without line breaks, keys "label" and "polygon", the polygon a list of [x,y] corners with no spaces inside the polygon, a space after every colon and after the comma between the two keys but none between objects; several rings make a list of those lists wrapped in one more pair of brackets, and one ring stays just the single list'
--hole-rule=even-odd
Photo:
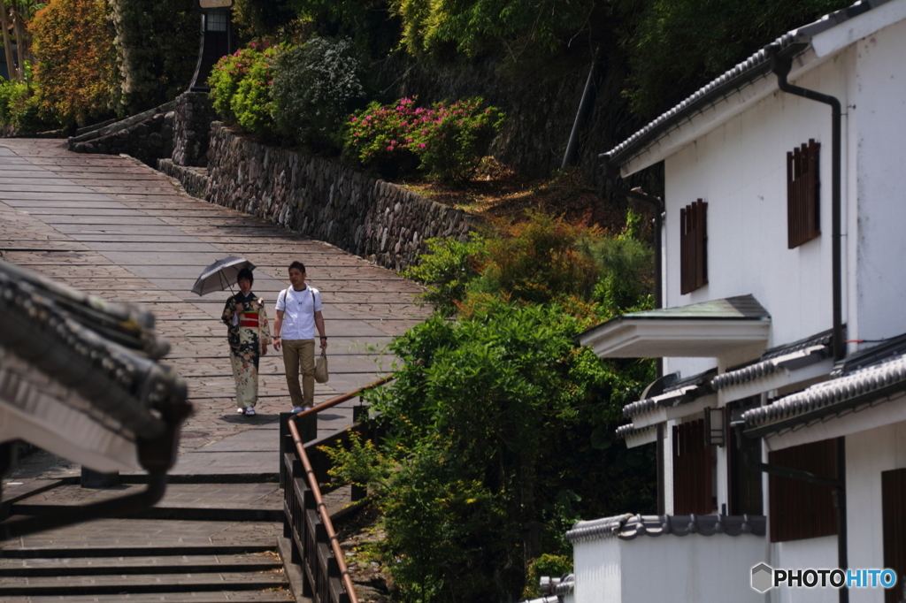
[{"label": "rounded yellow-green bush touching left side of the grey-green shrub", "polygon": [[252,42],[217,62],[207,84],[211,87],[211,104],[221,117],[249,132],[270,133],[274,112],[270,86],[276,53],[267,43]]}]

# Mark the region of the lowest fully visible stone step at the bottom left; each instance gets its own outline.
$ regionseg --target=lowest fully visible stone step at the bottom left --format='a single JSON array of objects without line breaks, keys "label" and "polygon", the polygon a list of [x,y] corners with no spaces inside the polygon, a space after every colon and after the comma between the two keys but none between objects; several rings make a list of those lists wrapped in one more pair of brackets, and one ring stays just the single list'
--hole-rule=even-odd
[{"label": "lowest fully visible stone step at the bottom left", "polygon": [[284,583],[283,570],[0,578],[0,598],[264,590]]}]

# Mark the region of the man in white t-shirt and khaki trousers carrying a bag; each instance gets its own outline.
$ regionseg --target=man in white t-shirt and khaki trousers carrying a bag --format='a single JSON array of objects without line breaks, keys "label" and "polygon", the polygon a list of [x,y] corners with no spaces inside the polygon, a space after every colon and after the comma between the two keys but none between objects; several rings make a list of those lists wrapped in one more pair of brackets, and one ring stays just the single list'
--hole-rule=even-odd
[{"label": "man in white t-shirt and khaki trousers carrying a bag", "polygon": [[[321,316],[321,292],[305,284],[302,262],[289,265],[287,287],[277,295],[277,318],[274,321],[274,349],[283,347],[286,386],[293,398],[293,412],[314,406],[314,330],[321,336],[321,347],[327,347],[324,319]],[[299,387],[302,369],[302,388]]]}]

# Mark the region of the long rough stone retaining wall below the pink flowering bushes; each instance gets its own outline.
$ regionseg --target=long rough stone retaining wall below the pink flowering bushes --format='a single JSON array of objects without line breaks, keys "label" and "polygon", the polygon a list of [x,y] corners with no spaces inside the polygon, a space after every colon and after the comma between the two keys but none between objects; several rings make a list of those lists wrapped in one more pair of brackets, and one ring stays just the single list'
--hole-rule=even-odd
[{"label": "long rough stone retaining wall below the pink flowering bushes", "polygon": [[271,148],[211,124],[206,198],[402,270],[425,240],[464,240],[477,222],[462,211],[323,158]]}]

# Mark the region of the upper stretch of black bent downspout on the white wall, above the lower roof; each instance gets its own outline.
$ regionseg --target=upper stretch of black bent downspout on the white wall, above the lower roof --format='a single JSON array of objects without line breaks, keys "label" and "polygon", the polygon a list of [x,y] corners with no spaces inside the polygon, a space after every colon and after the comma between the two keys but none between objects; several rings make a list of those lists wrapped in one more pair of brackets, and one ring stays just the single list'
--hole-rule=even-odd
[{"label": "upper stretch of black bent downspout on the white wall, above the lower roof", "polygon": [[777,76],[777,87],[788,94],[800,96],[809,101],[823,102],[831,106],[831,271],[833,272],[833,312],[834,312],[834,360],[842,360],[846,355],[843,340],[843,261],[842,261],[842,228],[840,200],[840,162],[841,162],[841,123],[843,110],[840,101],[830,94],[816,92],[786,81],[793,68],[793,60],[781,56],[780,46],[771,44],[767,47],[771,55],[771,71]]}]

